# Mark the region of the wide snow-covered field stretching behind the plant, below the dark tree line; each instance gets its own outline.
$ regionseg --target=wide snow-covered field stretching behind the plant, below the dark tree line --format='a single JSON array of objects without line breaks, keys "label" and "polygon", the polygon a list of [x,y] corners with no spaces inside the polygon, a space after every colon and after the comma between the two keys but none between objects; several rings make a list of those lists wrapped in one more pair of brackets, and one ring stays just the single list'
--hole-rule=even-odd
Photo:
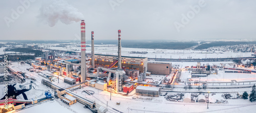
[{"label": "wide snow-covered field stretching behind the plant, below the dark tree line", "polygon": [[[90,45],[90,44],[88,44]],[[49,47],[50,50],[64,50],[80,52],[78,46],[66,47]],[[91,47],[86,47],[86,53],[91,53]],[[117,55],[117,46],[95,47],[95,54]],[[147,54],[130,54],[131,51],[148,52]],[[235,57],[251,57],[253,53],[233,53],[233,51],[199,51],[199,50],[167,50],[167,49],[139,49],[139,48],[122,48],[123,56],[148,57],[148,58],[235,58]]]}]

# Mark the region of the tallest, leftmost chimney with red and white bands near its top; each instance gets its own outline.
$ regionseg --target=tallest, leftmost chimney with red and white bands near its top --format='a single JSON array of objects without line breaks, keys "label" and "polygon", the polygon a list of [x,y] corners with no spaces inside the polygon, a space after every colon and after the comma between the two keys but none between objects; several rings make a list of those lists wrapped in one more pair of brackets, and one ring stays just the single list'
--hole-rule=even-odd
[{"label": "tallest, leftmost chimney with red and white bands near its top", "polygon": [[81,82],[86,81],[86,24],[81,22]]}]

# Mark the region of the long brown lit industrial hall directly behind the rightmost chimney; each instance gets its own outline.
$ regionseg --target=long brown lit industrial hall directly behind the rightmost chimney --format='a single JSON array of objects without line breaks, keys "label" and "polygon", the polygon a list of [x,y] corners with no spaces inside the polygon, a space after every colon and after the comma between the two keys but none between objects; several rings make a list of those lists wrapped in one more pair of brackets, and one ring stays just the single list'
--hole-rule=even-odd
[{"label": "long brown lit industrial hall directly behind the rightmost chimney", "polygon": [[[122,67],[125,69],[139,70],[140,72],[147,71],[147,57],[129,57],[122,56]],[[95,54],[95,66],[114,68],[118,67],[118,56]]]}]

